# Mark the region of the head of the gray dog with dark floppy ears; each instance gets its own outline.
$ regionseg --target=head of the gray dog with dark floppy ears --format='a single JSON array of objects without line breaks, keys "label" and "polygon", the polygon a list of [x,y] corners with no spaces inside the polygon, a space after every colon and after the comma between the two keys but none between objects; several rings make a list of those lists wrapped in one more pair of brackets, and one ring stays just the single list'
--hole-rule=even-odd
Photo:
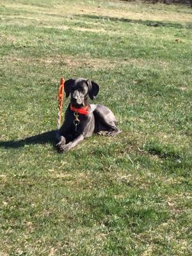
[{"label": "head of the gray dog with dark floppy ears", "polygon": [[98,84],[83,78],[68,79],[65,81],[64,88],[66,97],[70,95],[70,102],[76,108],[86,106],[88,104],[88,96],[93,100],[99,93]]}]

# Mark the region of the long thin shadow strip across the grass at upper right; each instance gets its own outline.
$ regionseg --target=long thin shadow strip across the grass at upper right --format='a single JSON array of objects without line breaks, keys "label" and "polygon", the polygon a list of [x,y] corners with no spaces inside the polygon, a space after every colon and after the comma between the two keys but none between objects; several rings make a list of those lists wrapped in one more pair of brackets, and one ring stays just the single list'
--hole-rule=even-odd
[{"label": "long thin shadow strip across the grass at upper right", "polygon": [[89,18],[89,19],[129,22],[129,23],[135,23],[135,24],[142,24],[150,27],[173,27],[173,28],[189,28],[189,29],[192,28],[192,22],[188,22],[188,24],[185,25],[185,24],[180,24],[177,22],[170,22],[170,21],[155,21],[155,20],[141,20],[141,19],[133,20],[133,19],[127,19],[127,18],[117,18],[117,17],[89,15],[89,14],[76,15],[76,16]]}]

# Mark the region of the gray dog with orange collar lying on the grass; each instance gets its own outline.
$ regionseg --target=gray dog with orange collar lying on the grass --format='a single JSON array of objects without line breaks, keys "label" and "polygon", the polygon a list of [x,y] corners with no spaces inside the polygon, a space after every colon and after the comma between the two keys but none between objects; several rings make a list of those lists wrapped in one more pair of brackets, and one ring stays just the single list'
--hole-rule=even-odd
[{"label": "gray dog with orange collar lying on the grass", "polygon": [[102,105],[88,104],[88,97],[94,99],[99,93],[99,85],[83,78],[65,81],[66,97],[70,104],[65,112],[65,121],[57,133],[58,152],[75,147],[93,133],[114,136],[120,130],[112,111]]}]

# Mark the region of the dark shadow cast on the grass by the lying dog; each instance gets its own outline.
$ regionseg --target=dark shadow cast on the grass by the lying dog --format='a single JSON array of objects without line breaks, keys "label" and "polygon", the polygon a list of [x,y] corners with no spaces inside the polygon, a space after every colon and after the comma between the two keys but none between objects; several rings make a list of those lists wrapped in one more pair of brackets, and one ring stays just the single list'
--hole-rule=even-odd
[{"label": "dark shadow cast on the grass by the lying dog", "polygon": [[0,141],[0,147],[3,148],[19,148],[29,144],[45,144],[51,143],[53,147],[56,145],[56,130],[43,132],[41,134],[25,138],[23,140]]}]

